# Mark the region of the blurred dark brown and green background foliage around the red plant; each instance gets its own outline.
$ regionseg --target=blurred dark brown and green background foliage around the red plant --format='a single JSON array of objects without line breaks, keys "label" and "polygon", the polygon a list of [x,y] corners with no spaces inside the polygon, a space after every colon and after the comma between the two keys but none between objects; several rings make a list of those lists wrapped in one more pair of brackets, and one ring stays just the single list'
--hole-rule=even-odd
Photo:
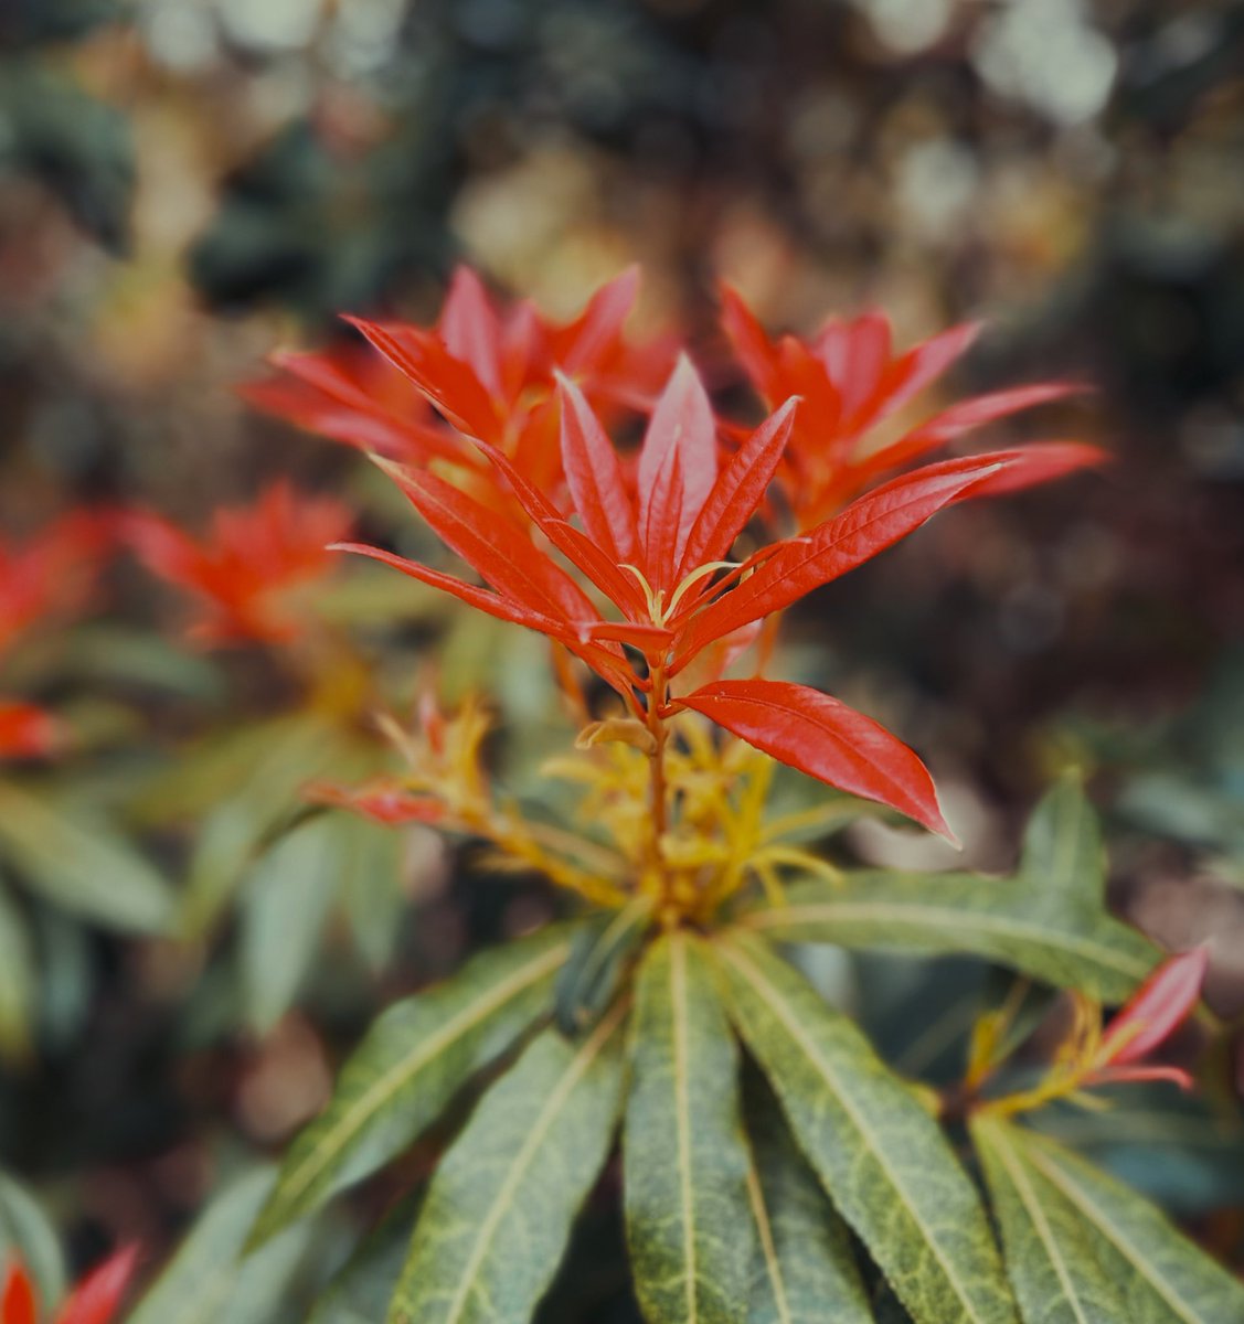
[{"label": "blurred dark brown and green background foliage around the red plant", "polygon": [[[964,866],[1010,869],[1040,789],[1084,768],[1112,895],[1168,944],[1210,937],[1211,1002],[1237,1018],[1241,69],[1244,9],[1208,0],[0,0],[0,528],[83,502],[203,528],[289,474],[417,539],[356,457],[248,413],[233,388],[274,347],[342,336],[338,311],[431,318],[462,258],[558,315],[639,260],[640,320],[689,326],[725,392],[718,277],[774,327],[877,305],[910,342],[984,318],[958,385],[1093,383],[1023,426],[1100,440],[1117,463],[957,511],[833,585],[792,622],[790,673],[930,756]],[[389,700],[409,700],[435,641],[450,688],[498,694],[497,764],[526,790],[559,737],[541,645],[347,573],[321,606],[386,670]],[[12,663],[73,714],[77,751],[0,798],[0,867],[23,879],[3,904],[29,948],[7,968],[29,965],[21,996],[38,1001],[0,1068],[0,1162],[86,1259],[119,1235],[159,1254],[318,1107],[368,1009],[548,904],[469,857],[448,891],[444,854],[415,833],[351,846],[391,858],[291,932],[314,833],[330,850],[340,834],[298,828],[284,865],[272,834],[311,764],[379,767],[380,741],[354,712],[309,737],[323,714],[297,677],[262,650],[185,645],[134,567],[106,588],[93,621]],[[68,816],[54,858],[12,846],[32,802]],[[947,863],[865,826],[851,843],[865,859]],[[113,843],[132,902],[114,927],[164,936],[70,918],[91,914],[74,841],[91,859]],[[160,906],[178,908],[171,929]],[[268,968],[270,951],[289,960]],[[825,972],[886,994],[873,1029],[898,1061],[943,974]],[[1233,1071],[1244,1090],[1239,1046]],[[1100,1137],[1133,1178],[1137,1113],[1134,1141]],[[1184,1131],[1214,1155],[1235,1143]],[[1218,1160],[1168,1149],[1150,1189],[1220,1253],[1239,1247],[1239,1196],[1206,1177]],[[257,1201],[245,1181],[228,1198]],[[12,1201],[0,1188],[0,1245],[29,1223]],[[580,1233],[603,1250],[550,1317],[632,1317],[605,1206]],[[335,1253],[282,1254],[278,1286],[248,1287],[231,1319],[276,1317],[280,1274]]]}]

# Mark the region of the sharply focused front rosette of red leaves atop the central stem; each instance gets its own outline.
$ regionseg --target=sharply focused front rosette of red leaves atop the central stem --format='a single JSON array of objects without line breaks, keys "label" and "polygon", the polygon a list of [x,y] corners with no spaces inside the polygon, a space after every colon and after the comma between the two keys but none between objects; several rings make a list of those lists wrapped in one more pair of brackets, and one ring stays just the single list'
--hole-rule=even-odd
[{"label": "sharply focused front rosette of red leaves atop the central stem", "polygon": [[[923,764],[876,722],[805,686],[722,679],[721,673],[766,618],[939,510],[1097,462],[1100,451],[1027,446],[926,465],[805,532],[730,563],[739,534],[788,462],[796,418],[815,434],[823,402],[786,400],[739,445],[722,451],[707,393],[682,356],[652,409],[637,461],[628,465],[570,377],[558,379],[559,428],[550,433],[543,414],[523,414],[517,422],[507,416],[502,397],[482,389],[480,373],[468,372],[444,340],[404,327],[355,324],[489,461],[484,490],[477,485],[469,493],[431,469],[382,461],[433,531],[488,587],[375,547],[344,549],[548,636],[612,686],[650,728],[680,710],[696,710],[783,763],[949,834]],[[493,346],[494,334],[482,312],[458,331],[478,364],[486,361],[481,347]],[[552,449],[555,455],[548,454]],[[562,477],[533,477],[551,474]],[[517,500],[526,524],[498,515],[507,499]],[[605,614],[554,553],[613,612]],[[693,665],[700,683],[686,685]]]}]

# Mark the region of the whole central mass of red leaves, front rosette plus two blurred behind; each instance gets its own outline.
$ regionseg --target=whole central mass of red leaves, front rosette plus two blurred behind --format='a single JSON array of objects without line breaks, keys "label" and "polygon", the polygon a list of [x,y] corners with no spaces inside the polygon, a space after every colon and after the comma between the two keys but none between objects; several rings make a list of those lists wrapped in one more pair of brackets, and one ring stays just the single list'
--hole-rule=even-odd
[{"label": "whole central mass of red leaves, front rosette plus two blurred behind", "polygon": [[[943,372],[975,328],[897,356],[876,314],[831,322],[809,342],[771,342],[725,291],[726,327],[772,409],[759,428],[741,429],[717,417],[685,354],[665,375],[660,346],[627,346],[621,324],[633,297],[628,273],[575,323],[551,328],[529,305],[499,316],[480,281],[460,271],[433,328],[351,319],[387,363],[383,372],[374,363],[352,369],[347,392],[340,356],[284,359],[298,385],[286,379],[250,397],[380,451],[484,584],[380,548],[346,549],[548,636],[643,720],[700,711],[784,763],[947,831],[927,771],[869,718],[804,686],[722,673],[766,618],[939,510],[1097,463],[1093,448],[1051,442],[943,459],[872,486],[971,428],[1073,388],[978,397],[865,451],[865,433]],[[384,381],[379,392],[368,392],[364,371]],[[392,373],[408,387],[395,387]],[[395,409],[409,388],[423,404]],[[620,409],[647,416],[637,451],[609,437]],[[399,444],[403,418],[417,428]],[[788,536],[772,530],[775,483],[796,515]],[[755,538],[758,523],[768,536]],[[729,560],[745,532],[749,553]]]}]

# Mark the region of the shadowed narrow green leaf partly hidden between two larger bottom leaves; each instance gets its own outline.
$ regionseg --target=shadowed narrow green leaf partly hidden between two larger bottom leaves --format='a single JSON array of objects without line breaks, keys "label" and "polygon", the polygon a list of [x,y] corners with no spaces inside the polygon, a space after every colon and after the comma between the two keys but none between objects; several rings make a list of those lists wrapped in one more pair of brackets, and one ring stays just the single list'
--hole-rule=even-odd
[{"label": "shadowed narrow green leaf partly hidden between two larger bottom leaves", "polygon": [[870,1324],[847,1229],[772,1098],[747,1110],[747,1131],[759,1233],[747,1324]]}]

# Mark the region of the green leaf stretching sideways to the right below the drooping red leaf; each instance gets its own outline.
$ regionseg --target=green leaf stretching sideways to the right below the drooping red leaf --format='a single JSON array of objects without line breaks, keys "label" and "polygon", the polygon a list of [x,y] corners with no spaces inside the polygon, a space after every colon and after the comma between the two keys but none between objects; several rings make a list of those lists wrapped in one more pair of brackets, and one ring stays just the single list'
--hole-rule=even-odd
[{"label": "green leaf stretching sideways to the right below the drooping red leaf", "polygon": [[741,920],[790,943],[974,953],[1102,1002],[1122,1002],[1158,961],[1135,929],[1065,892],[975,874],[857,871],[812,880]]}]

